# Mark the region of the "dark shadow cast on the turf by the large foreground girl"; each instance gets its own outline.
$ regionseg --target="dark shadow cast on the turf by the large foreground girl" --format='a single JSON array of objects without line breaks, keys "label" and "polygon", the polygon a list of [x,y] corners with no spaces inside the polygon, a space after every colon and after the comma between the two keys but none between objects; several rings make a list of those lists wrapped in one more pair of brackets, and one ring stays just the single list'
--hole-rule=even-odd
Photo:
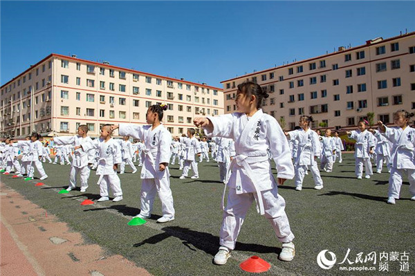
[{"label": "dark shadow cast on the turf by the large foreground girl", "polygon": [[[194,248],[197,248],[214,256],[219,248],[219,237],[216,237],[210,233],[190,230],[189,228],[182,228],[179,226],[169,226],[162,228],[161,230],[164,232],[161,234],[156,234],[153,237],[150,237],[149,239],[145,239],[140,243],[135,243],[133,244],[133,247],[139,247],[145,244],[156,244],[169,237],[176,237],[178,239],[181,239],[183,241],[183,245],[192,251],[196,251],[196,249]],[[191,246],[193,246],[194,248],[192,248]],[[255,243],[241,243],[239,241],[237,242],[235,250],[277,254],[281,252],[281,248],[263,246]]]}]

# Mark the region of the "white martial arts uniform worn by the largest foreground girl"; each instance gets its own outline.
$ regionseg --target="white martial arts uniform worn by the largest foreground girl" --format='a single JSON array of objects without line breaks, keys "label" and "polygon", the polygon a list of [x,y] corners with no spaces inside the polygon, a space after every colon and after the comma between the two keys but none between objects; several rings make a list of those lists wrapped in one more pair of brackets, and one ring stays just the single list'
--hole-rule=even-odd
[{"label": "white martial arts uniform worn by the largest foreground girl", "polygon": [[294,239],[286,216],[284,198],[278,194],[266,150],[273,152],[279,178],[294,176],[290,148],[275,118],[259,109],[248,118],[245,113],[208,117],[214,128],[204,128],[208,137],[231,138],[236,155],[230,164],[228,204],[223,211],[220,232],[221,246],[234,249],[246,212],[257,201],[259,212],[265,214],[283,243]]}]

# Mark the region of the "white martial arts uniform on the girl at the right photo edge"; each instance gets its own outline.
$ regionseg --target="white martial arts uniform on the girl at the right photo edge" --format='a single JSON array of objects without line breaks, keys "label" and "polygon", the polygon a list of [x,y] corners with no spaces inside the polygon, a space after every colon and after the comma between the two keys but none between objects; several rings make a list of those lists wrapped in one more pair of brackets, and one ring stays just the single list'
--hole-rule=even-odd
[{"label": "white martial arts uniform on the girl at the right photo edge", "polygon": [[391,175],[389,176],[388,197],[399,199],[402,176],[407,175],[409,192],[415,196],[415,129],[386,127],[385,136],[392,142]]}]

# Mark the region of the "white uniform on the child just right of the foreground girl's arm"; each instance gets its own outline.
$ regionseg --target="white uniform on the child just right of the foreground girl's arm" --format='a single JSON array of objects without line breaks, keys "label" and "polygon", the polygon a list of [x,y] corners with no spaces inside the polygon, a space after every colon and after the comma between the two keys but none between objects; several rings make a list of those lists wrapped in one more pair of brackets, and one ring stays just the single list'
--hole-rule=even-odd
[{"label": "white uniform on the child just right of the foreground girl's arm", "polygon": [[321,148],[317,132],[312,129],[297,129],[288,132],[289,140],[298,140],[297,156],[295,157],[295,187],[301,189],[307,169],[311,170],[315,186],[322,186],[323,181],[315,158],[320,157]]}]

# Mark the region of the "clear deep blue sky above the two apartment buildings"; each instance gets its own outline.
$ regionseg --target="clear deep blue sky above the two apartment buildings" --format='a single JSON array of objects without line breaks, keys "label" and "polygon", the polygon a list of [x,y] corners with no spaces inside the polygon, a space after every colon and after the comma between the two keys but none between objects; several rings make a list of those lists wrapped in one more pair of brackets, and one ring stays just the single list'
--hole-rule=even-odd
[{"label": "clear deep blue sky above the two apartment buildings", "polygon": [[414,1],[1,1],[4,84],[50,53],[221,81],[415,31]]}]

